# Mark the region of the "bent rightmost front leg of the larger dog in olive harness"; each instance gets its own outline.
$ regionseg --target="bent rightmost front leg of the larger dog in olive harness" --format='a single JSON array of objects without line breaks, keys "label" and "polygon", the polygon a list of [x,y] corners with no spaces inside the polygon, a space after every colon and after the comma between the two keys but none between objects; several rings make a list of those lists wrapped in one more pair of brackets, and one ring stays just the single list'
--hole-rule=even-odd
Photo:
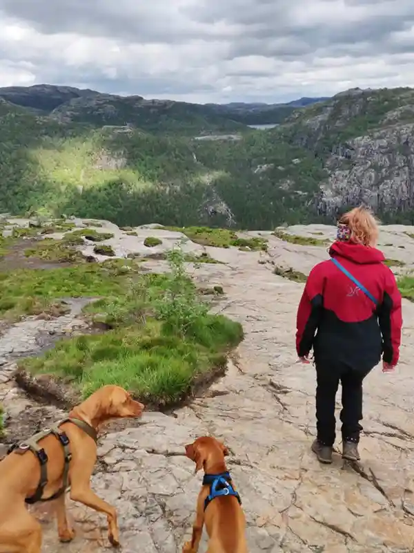
[{"label": "bent rightmost front leg of the larger dog in olive harness", "polygon": [[108,520],[108,540],[113,547],[119,547],[117,511],[112,505],[103,501],[90,489],[90,477],[92,476],[95,461],[96,455],[79,458],[79,461],[72,458],[69,476],[70,499],[79,501],[79,503],[83,503],[83,505],[99,513],[105,513]]}]

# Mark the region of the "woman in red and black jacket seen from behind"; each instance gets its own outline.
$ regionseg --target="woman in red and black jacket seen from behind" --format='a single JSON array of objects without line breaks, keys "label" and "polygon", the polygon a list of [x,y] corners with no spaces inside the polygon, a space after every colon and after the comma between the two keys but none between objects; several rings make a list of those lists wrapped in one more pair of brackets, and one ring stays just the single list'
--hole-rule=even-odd
[{"label": "woman in red and black jacket seen from behind", "polygon": [[297,311],[296,349],[316,366],[317,438],[312,451],[331,463],[335,442],[335,395],[342,384],[342,457],[359,460],[362,381],[380,362],[393,371],[398,362],[401,294],[384,255],[375,248],[375,218],[357,207],[339,219],[331,259],[311,273]]}]

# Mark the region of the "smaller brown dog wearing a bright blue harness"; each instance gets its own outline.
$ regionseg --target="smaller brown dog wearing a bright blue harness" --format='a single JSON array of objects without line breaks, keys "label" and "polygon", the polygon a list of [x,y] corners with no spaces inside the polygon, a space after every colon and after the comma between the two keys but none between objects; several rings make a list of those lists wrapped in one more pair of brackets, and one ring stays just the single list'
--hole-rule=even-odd
[{"label": "smaller brown dog wearing a bright blue harness", "polygon": [[[204,469],[203,487],[197,499],[193,538],[184,544],[183,553],[197,553],[206,522],[207,553],[247,553],[246,519],[239,494],[228,474],[224,444],[204,436],[186,445],[186,456],[195,462],[195,472]],[[219,475],[223,475],[219,479]]]}]

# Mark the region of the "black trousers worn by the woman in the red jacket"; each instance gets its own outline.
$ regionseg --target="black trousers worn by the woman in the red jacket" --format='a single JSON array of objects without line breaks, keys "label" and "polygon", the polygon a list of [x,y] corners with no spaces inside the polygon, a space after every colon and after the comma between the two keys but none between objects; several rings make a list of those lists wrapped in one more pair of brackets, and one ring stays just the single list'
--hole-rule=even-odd
[{"label": "black trousers worn by the woman in the red jacket", "polygon": [[344,363],[316,364],[316,429],[324,445],[335,442],[335,396],[342,384],[342,441],[359,442],[362,426],[362,381],[373,367],[356,369]]}]

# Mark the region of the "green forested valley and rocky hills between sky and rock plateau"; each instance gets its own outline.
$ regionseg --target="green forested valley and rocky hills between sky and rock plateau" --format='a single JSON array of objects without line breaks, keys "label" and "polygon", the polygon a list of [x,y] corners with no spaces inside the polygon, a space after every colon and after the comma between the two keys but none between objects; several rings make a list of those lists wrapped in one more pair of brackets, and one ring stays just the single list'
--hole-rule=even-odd
[{"label": "green forested valley and rocky hills between sky and rock plateau", "polygon": [[0,88],[0,212],[273,229],[332,223],[364,203],[412,223],[414,90],[304,104]]}]

